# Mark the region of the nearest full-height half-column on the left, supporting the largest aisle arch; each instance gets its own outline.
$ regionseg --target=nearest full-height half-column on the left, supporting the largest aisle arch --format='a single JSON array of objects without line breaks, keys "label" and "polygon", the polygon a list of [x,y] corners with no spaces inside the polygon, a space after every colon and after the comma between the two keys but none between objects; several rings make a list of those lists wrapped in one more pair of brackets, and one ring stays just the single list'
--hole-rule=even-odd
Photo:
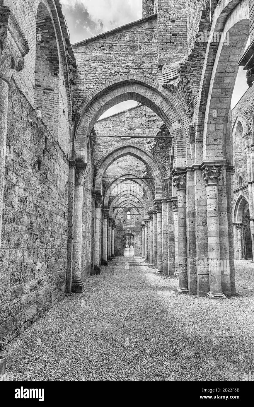
[{"label": "nearest full-height half-column on the left, supporting the largest aisle arch", "polygon": [[85,285],[81,279],[82,266],[82,230],[83,230],[83,187],[88,166],[77,163],[75,173],[75,210],[73,224],[73,269],[72,292],[83,293]]}]

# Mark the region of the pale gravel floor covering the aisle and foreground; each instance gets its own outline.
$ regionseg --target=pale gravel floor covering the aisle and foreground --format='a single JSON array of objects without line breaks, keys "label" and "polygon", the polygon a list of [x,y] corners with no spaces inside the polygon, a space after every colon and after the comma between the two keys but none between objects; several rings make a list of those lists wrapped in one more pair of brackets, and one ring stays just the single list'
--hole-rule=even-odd
[{"label": "pale gravel floor covering the aisle and foreground", "polygon": [[[128,261],[128,266],[125,264]],[[237,296],[178,295],[141,258],[116,258],[4,352],[14,380],[242,380],[254,374],[254,263]],[[215,345],[217,341],[217,345]]]}]

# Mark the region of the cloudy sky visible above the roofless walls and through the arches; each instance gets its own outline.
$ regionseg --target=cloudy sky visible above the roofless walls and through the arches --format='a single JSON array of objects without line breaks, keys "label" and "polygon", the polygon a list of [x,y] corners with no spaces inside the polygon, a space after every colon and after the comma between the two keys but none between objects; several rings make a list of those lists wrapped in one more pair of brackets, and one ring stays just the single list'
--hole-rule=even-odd
[{"label": "cloudy sky visible above the roofless walls and through the arches", "polygon": [[[142,18],[142,0],[60,1],[72,44]],[[232,107],[247,90],[245,73],[240,68],[232,97]],[[128,109],[135,104],[133,101],[120,103],[109,109],[103,117]]]}]

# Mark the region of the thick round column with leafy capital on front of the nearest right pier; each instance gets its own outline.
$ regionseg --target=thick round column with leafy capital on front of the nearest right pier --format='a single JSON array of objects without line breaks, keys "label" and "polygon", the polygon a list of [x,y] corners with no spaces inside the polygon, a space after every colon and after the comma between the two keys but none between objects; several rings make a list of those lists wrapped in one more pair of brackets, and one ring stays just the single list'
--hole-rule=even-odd
[{"label": "thick round column with leafy capital on front of the nearest right pier", "polygon": [[209,298],[225,298],[221,291],[221,264],[219,238],[219,205],[218,184],[221,168],[206,166],[203,178],[206,182],[207,235],[208,235],[208,268]]}]

